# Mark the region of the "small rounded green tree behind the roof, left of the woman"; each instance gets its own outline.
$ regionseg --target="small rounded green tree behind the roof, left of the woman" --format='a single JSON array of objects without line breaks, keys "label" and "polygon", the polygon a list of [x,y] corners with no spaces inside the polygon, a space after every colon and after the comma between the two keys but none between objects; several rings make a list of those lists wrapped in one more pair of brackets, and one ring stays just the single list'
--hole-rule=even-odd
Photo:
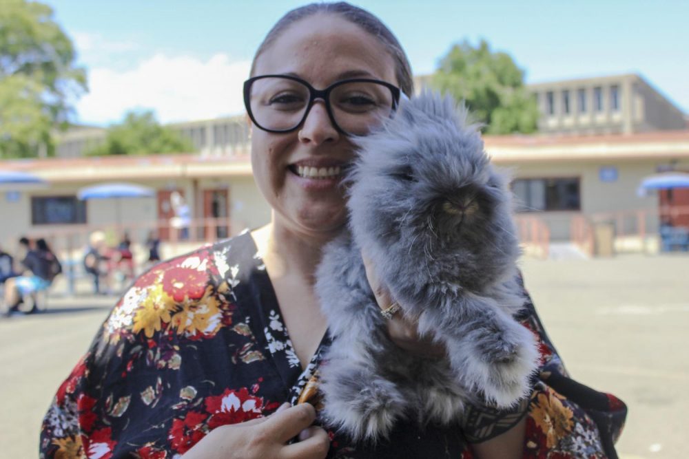
[{"label": "small rounded green tree behind the roof, left of the woman", "polygon": [[173,129],[161,126],[152,111],[130,111],[120,125],[107,129],[105,143],[89,156],[188,153],[192,142]]}]

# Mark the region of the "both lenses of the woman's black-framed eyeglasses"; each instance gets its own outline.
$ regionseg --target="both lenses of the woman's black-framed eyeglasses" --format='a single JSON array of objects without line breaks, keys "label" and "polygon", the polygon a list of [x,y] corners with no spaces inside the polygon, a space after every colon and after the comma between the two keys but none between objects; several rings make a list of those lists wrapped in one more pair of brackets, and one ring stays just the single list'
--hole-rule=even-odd
[{"label": "both lenses of the woman's black-framed eyeglasses", "polygon": [[[289,131],[304,120],[309,87],[289,78],[255,80],[249,90],[256,124],[272,131]],[[366,134],[393,110],[389,87],[373,82],[347,82],[333,87],[327,103],[335,122],[347,134]]]}]

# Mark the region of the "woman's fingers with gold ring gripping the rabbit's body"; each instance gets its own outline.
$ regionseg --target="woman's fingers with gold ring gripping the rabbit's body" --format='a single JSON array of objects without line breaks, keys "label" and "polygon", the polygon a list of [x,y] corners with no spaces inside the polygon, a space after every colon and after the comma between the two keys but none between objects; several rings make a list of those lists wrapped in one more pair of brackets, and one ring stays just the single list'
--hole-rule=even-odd
[{"label": "woman's fingers with gold ring gripping the rabbit's body", "polygon": [[[373,295],[376,295],[378,307],[381,310],[388,308],[393,299],[390,296],[389,290],[378,280],[376,273],[373,271],[371,260],[362,254],[364,259],[364,268],[366,268],[366,277],[369,279],[369,285],[373,290]],[[402,317],[402,313],[393,314],[393,317],[387,320],[388,334],[390,339],[400,348],[411,352],[417,356],[429,357],[431,359],[438,359],[444,357],[446,352],[443,345],[433,343],[431,337],[421,337],[418,333],[418,327],[415,322],[408,321]]]}]

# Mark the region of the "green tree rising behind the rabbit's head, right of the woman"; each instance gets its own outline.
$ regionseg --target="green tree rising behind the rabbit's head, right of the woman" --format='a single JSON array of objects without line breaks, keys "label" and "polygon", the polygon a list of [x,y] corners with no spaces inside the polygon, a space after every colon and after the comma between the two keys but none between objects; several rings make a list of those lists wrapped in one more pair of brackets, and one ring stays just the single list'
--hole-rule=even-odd
[{"label": "green tree rising behind the rabbit's head, right of the woman", "polygon": [[524,71],[509,54],[493,52],[481,40],[453,45],[431,78],[431,86],[464,100],[489,134],[536,130],[538,107],[524,87]]}]

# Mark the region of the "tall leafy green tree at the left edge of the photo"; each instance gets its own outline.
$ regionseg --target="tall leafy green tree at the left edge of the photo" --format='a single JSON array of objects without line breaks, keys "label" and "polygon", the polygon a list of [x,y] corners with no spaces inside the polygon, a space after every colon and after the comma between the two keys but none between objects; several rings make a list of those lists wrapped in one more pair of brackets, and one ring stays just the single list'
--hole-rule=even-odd
[{"label": "tall leafy green tree at the left edge of the photo", "polygon": [[50,131],[66,127],[86,74],[49,6],[1,3],[0,158],[37,156],[52,150]]}]

